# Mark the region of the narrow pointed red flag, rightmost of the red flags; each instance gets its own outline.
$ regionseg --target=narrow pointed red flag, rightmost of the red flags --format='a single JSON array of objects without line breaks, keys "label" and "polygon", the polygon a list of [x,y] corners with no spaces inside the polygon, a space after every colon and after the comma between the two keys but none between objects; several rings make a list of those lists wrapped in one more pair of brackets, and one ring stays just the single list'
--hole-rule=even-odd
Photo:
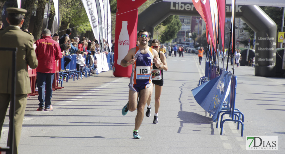
[{"label": "narrow pointed red flag, rightmost of the red flags", "polygon": [[221,38],[222,38],[221,42],[222,42],[223,51],[224,51],[226,0],[217,0],[217,5],[218,5],[218,12],[219,12],[219,23],[220,23],[220,28],[221,28]]}]

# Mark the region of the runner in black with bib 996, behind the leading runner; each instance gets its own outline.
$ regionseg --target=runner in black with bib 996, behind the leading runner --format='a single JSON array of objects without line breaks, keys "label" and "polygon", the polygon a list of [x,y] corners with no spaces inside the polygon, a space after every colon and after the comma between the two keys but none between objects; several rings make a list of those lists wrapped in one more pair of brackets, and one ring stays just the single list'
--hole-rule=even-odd
[{"label": "runner in black with bib 996, behind the leading runner", "polygon": [[[167,67],[167,63],[166,63],[166,57],[162,52],[158,51],[159,46],[160,46],[160,42],[157,39],[152,40],[151,48],[158,52],[158,56],[164,65],[163,69],[165,71],[167,71],[168,67]],[[150,117],[150,109],[151,109],[150,100],[151,100],[153,86],[155,85],[155,95],[154,95],[155,114],[153,117],[153,123],[157,124],[158,123],[158,109],[160,106],[160,95],[161,95],[162,86],[163,86],[163,70],[157,69],[157,67],[155,66],[154,63],[152,64],[152,66],[153,66],[152,67],[152,73],[151,73],[152,74],[152,87],[151,87],[149,98],[147,100],[148,107],[146,109],[145,115],[147,117]]]}]

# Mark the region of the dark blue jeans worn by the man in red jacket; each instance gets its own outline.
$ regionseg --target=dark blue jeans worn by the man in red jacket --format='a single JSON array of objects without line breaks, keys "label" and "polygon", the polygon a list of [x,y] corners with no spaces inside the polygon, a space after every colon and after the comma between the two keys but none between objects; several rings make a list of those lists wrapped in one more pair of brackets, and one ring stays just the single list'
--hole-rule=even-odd
[{"label": "dark blue jeans worn by the man in red jacket", "polygon": [[[50,99],[52,98],[52,83],[54,80],[54,73],[36,73],[38,81],[38,104],[40,107],[50,108]],[[46,95],[44,95],[46,90]]]}]

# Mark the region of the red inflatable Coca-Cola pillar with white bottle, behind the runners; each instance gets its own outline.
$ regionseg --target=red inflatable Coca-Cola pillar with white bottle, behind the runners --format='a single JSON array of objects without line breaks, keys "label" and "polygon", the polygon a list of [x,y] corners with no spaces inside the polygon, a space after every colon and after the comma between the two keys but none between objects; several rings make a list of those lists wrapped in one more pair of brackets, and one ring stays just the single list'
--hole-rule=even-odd
[{"label": "red inflatable Coca-Cola pillar with white bottle, behind the runners", "polygon": [[[137,43],[138,10],[147,0],[117,0],[117,16],[114,51],[114,76],[130,77],[132,65],[122,67],[121,60]],[[123,25],[123,26],[122,26]]]}]

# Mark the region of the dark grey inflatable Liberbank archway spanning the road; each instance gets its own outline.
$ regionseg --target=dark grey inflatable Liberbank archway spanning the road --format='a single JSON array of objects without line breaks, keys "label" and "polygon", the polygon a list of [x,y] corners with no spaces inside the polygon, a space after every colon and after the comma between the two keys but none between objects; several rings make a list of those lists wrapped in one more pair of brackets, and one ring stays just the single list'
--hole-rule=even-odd
[{"label": "dark grey inflatable Liberbank archway spanning the road", "polygon": [[[227,5],[227,17],[231,17],[230,11],[231,6]],[[152,39],[154,27],[169,15],[200,16],[193,3],[160,2],[150,5],[138,16],[138,30],[145,28]],[[260,7],[251,5],[236,5],[236,17],[243,19],[256,32],[255,76],[275,76],[275,22]]]}]

